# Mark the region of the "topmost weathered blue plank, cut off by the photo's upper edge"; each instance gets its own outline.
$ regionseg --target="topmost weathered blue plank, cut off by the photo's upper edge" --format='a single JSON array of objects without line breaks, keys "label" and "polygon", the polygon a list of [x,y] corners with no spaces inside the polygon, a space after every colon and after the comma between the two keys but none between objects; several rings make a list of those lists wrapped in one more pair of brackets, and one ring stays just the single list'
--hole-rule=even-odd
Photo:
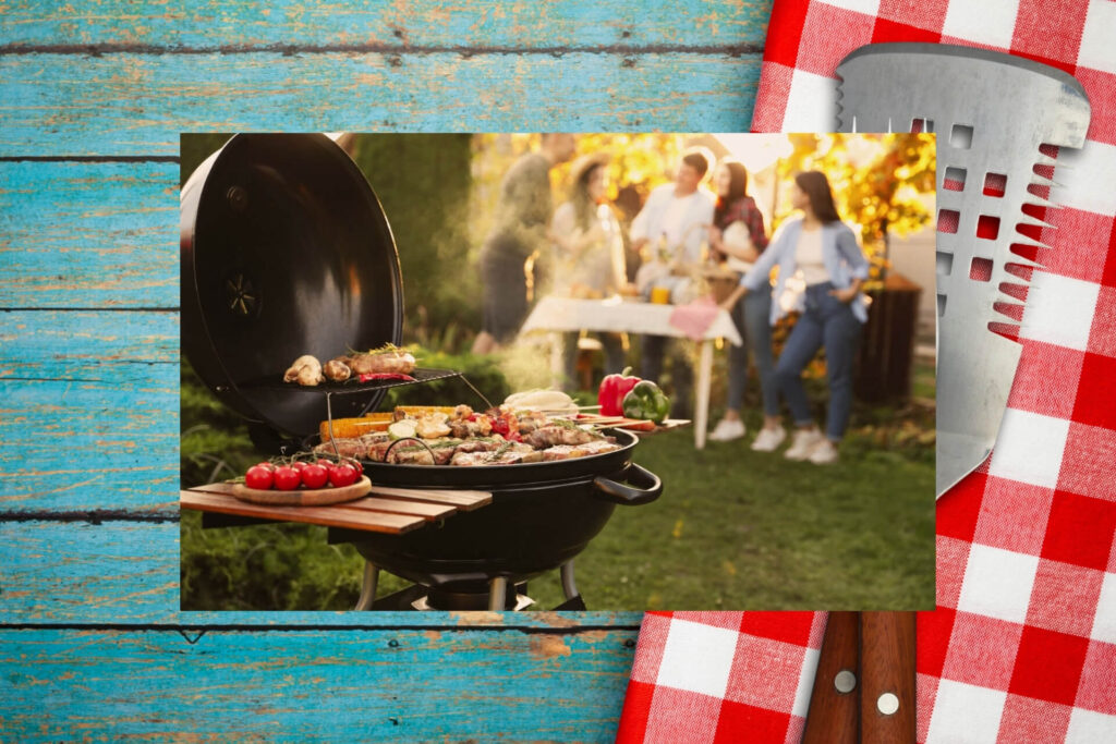
[{"label": "topmost weathered blue plank, cut off by the photo's upper edge", "polygon": [[[633,48],[762,46],[770,2],[472,0],[338,3],[323,0],[136,3],[77,0],[4,3],[12,46],[261,47],[383,45],[527,52],[624,44]],[[657,50],[657,49],[655,49]]]}]

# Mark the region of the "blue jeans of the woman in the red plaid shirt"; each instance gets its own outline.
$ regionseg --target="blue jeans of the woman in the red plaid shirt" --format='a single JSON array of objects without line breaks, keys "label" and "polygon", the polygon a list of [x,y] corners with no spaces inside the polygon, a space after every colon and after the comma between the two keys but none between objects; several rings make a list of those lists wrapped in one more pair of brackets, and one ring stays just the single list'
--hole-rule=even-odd
[{"label": "blue jeans of the woman in the red plaid shirt", "polygon": [[743,344],[729,346],[729,408],[740,410],[748,386],[748,352],[756,360],[760,376],[763,413],[779,415],[779,389],[775,384],[775,356],[771,354],[771,287],[748,292],[732,308],[732,322]]}]

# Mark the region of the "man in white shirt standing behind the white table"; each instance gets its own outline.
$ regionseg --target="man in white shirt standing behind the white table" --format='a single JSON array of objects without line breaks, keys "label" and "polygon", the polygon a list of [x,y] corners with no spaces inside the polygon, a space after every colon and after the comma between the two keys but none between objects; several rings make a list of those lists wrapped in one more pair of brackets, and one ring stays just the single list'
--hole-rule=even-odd
[{"label": "man in white shirt standing behind the white table", "polygon": [[[700,149],[683,154],[674,183],[663,184],[647,197],[647,203],[632,223],[632,245],[642,251],[648,247],[652,255],[665,245],[667,261],[675,270],[702,260],[701,247],[713,222],[714,199],[701,182],[709,172],[710,162]],[[641,375],[658,380],[668,342],[666,336],[644,336]],[[671,376],[674,381],[671,415],[689,418],[693,397],[693,369],[677,350],[671,355]]]}]

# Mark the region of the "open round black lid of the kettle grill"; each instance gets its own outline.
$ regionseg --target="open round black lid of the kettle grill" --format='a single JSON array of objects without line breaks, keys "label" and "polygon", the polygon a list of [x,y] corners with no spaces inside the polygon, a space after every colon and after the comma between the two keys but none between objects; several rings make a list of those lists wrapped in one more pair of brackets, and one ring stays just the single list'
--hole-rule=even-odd
[{"label": "open round black lid of the kettle grill", "polygon": [[[323,134],[241,134],[181,195],[182,350],[218,397],[249,421],[307,436],[327,396],[277,385],[304,354],[398,344],[403,280],[372,186]],[[352,389],[352,388],[349,388]],[[382,386],[331,396],[356,416]]]}]

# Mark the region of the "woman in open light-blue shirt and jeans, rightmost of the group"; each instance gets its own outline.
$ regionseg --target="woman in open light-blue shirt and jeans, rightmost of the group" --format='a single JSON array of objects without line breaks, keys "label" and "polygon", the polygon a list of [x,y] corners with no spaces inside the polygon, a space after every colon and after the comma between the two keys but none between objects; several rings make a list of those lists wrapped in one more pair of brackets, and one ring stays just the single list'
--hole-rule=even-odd
[{"label": "woman in open light-blue shirt and jeans, rightmost of the group", "polygon": [[[791,204],[801,210],[802,216],[780,228],[722,307],[767,286],[771,269],[778,265],[770,317],[775,323],[783,312],[780,298],[788,280],[795,277],[805,283],[806,291],[798,300],[801,315],[783,346],[775,378],[797,427],[786,456],[821,465],[837,460],[837,444],[848,426],[853,407],[853,360],[860,328],[868,319],[867,301],[860,292],[868,277],[868,262],[853,231],[837,215],[824,173],[808,171],[795,176]],[[829,378],[829,413],[824,435],[814,423],[802,387],[802,370],[821,347],[826,349]]]}]

